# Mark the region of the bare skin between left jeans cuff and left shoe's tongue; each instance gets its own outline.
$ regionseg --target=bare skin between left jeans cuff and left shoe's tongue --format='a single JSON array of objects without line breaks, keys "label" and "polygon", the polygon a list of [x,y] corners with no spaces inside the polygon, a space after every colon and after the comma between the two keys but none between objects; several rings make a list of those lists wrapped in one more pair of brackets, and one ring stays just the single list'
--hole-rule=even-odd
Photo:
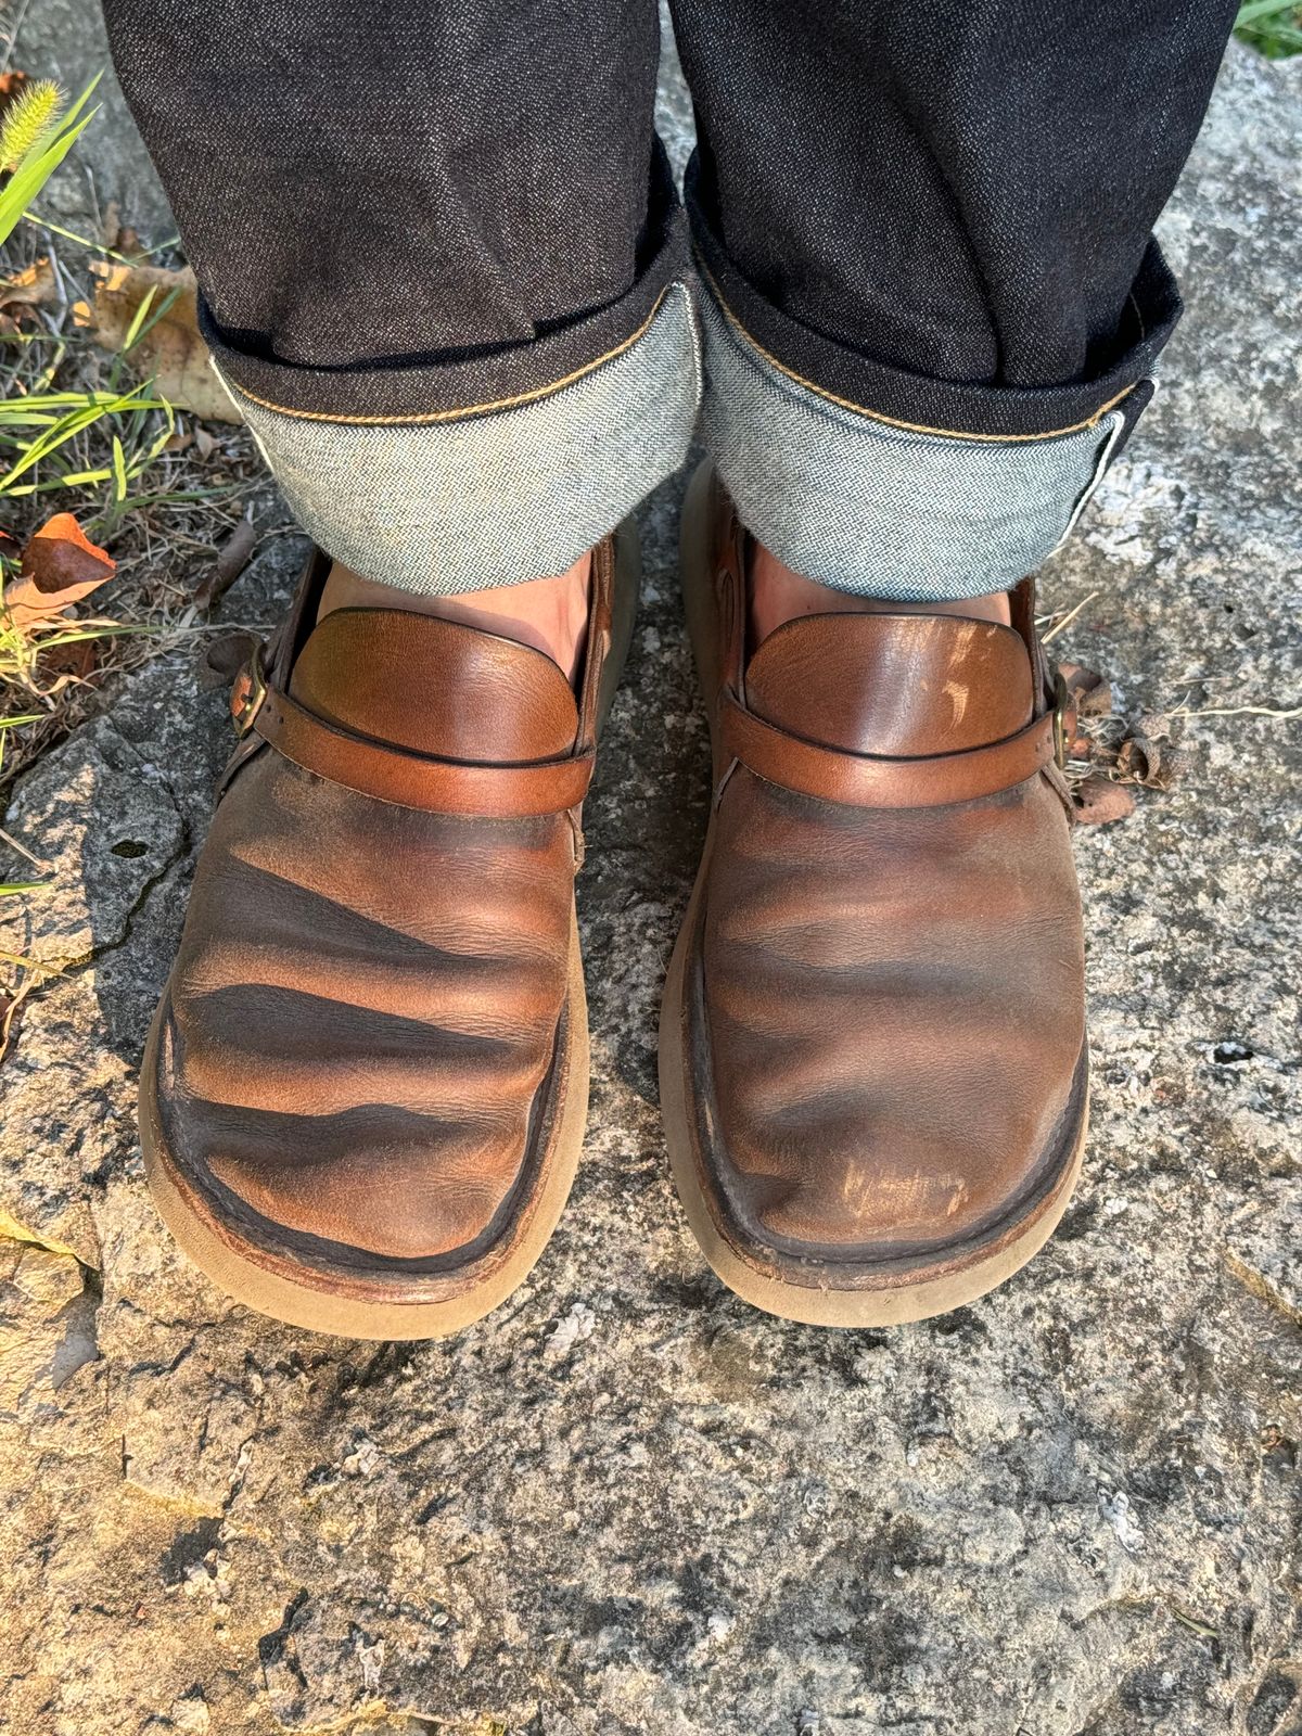
[{"label": "bare skin between left jeans cuff and left shoe's tongue", "polygon": [[589,620],[592,554],[582,556],[568,573],[556,578],[531,578],[521,585],[493,585],[455,597],[427,597],[398,585],[377,585],[335,562],[321,592],[316,618],[333,609],[408,609],[434,615],[479,632],[516,639],[543,651],[575,682],[583,660]]}]

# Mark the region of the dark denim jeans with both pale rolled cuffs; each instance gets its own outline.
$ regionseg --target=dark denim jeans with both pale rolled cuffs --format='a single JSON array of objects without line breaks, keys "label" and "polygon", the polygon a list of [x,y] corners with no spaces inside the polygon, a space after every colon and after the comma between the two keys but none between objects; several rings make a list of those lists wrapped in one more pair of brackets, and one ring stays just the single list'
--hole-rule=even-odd
[{"label": "dark denim jeans with both pale rolled cuffs", "polygon": [[[675,467],[701,335],[653,0],[106,14],[220,372],[332,552],[528,578]],[[1151,392],[1179,316],[1151,229],[1233,0],[674,17],[703,434],[743,516],[849,590],[1012,582]]]}]

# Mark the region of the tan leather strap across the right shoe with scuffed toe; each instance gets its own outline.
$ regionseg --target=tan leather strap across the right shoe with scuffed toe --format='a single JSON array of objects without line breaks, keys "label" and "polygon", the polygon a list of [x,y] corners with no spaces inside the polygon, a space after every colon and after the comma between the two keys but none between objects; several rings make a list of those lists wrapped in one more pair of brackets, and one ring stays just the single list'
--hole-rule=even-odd
[{"label": "tan leather strap across the right shoe with scuffed toe", "polygon": [[849,807],[939,807],[970,802],[1033,778],[1054,764],[1054,712],[1036,717],[1003,741],[925,759],[847,753],[790,736],[720,694],[724,760],[734,759],[779,785]]}]

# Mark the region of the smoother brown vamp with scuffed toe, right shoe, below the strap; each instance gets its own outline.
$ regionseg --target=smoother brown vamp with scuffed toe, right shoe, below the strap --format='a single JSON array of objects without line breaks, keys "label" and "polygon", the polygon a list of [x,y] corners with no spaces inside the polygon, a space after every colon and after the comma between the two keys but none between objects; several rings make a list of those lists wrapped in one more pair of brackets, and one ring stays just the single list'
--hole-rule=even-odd
[{"label": "smoother brown vamp with scuffed toe, right shoe, below the strap", "polygon": [[733,1210],[873,1257],[996,1224],[1054,1161],[1083,1043],[1057,795],[856,809],[738,769],[715,825],[703,1003]]}]

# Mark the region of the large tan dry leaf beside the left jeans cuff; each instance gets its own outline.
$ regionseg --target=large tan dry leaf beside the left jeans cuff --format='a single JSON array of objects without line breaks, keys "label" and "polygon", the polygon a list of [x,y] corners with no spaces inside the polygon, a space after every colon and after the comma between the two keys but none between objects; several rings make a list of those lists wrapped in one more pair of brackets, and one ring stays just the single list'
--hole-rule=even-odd
[{"label": "large tan dry leaf beside the left jeans cuff", "polygon": [[[149,330],[127,358],[132,368],[141,375],[155,375],[160,398],[167,398],[177,410],[191,410],[210,422],[240,422],[240,411],[212,372],[208,345],[200,337],[194,273],[104,262],[90,269],[95,274],[95,306],[87,312],[97,342],[104,349],[122,349],[141,302],[153,290],[146,314]],[[174,292],[172,306],[155,319]]]}]

